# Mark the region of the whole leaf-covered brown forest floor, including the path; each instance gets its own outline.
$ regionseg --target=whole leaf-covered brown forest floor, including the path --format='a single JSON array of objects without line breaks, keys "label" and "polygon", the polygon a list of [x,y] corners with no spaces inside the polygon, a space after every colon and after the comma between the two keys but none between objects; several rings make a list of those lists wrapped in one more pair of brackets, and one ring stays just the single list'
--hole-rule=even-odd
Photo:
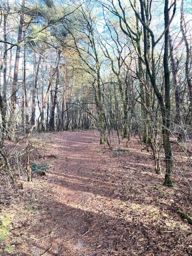
[{"label": "whole leaf-covered brown forest floor, including the path", "polygon": [[[174,188],[162,186],[136,138],[121,152],[96,131],[35,137],[49,167],[23,189],[1,177],[0,256],[192,256],[192,226],[177,214],[192,213],[190,188],[179,171]],[[174,165],[192,181],[187,161]]]}]

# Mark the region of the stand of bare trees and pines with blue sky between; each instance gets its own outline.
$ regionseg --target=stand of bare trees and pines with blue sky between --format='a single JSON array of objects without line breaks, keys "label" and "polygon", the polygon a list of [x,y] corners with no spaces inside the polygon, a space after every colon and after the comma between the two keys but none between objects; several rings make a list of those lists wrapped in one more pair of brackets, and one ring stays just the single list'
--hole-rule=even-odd
[{"label": "stand of bare trees and pines with blue sky between", "polygon": [[[191,4],[181,0],[1,3],[4,140],[98,128],[100,144],[138,134],[172,186],[170,136],[191,162]],[[108,144],[109,144],[109,140]]]}]

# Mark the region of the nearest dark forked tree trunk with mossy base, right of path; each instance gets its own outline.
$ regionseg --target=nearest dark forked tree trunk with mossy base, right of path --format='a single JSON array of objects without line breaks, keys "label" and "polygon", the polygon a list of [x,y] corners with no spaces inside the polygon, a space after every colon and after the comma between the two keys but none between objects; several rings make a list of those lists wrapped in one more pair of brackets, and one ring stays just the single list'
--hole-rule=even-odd
[{"label": "nearest dark forked tree trunk with mossy base, right of path", "polygon": [[[154,88],[154,92],[158,98],[160,103],[161,112],[162,112],[162,137],[163,137],[163,146],[164,146],[164,153],[165,153],[165,161],[166,161],[166,174],[164,185],[172,187],[172,151],[170,146],[170,73],[169,73],[169,66],[168,66],[168,50],[169,50],[169,9],[168,9],[168,0],[165,0],[164,5],[164,19],[165,24],[164,27],[166,29],[165,32],[165,45],[164,45],[164,83],[165,83],[165,104],[163,100],[162,94],[159,92],[157,85],[156,85],[156,72],[155,72],[155,58],[154,58],[154,35],[151,35],[152,38],[152,50],[151,50],[151,66],[150,61],[148,58],[148,49],[147,49],[147,32],[146,26],[143,26],[143,34],[144,34],[144,58],[147,67],[147,72],[150,77],[151,84]],[[141,6],[141,16],[142,21],[146,24],[145,14],[144,14],[144,2],[140,0]]]}]

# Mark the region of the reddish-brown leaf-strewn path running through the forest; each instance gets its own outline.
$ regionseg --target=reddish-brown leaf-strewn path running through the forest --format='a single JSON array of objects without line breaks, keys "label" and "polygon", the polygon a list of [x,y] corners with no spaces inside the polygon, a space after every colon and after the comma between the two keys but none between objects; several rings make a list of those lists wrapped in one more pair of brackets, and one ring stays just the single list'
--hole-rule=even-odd
[{"label": "reddish-brown leaf-strewn path running through the forest", "polygon": [[[137,230],[139,234],[136,234],[139,240],[134,242],[134,236],[131,238],[139,222],[133,224],[132,218],[140,207],[136,202],[130,208],[126,197],[130,188],[131,201],[132,198],[140,198],[136,198],[138,192],[131,175],[138,168],[134,166],[134,159],[129,160],[132,165],[130,170],[120,167],[120,157],[117,158],[116,152],[108,150],[107,146],[98,144],[96,131],[63,132],[49,136],[52,142],[44,154],[53,154],[56,159],[52,159],[44,180],[48,191],[43,194],[50,196],[40,199],[44,232],[42,226],[38,226],[36,233],[43,236],[53,232],[54,235],[49,238],[53,243],[52,251],[57,253],[53,255],[129,255],[130,246],[139,243],[140,239],[147,240],[140,228]],[[124,156],[127,157],[127,154]],[[123,162],[125,164],[126,159],[121,159],[122,165]],[[128,212],[132,215],[129,216]],[[48,248],[49,244],[50,241],[42,247]],[[136,246],[132,250],[138,252],[139,248]],[[32,254],[38,253],[37,247],[34,248]]]}]

